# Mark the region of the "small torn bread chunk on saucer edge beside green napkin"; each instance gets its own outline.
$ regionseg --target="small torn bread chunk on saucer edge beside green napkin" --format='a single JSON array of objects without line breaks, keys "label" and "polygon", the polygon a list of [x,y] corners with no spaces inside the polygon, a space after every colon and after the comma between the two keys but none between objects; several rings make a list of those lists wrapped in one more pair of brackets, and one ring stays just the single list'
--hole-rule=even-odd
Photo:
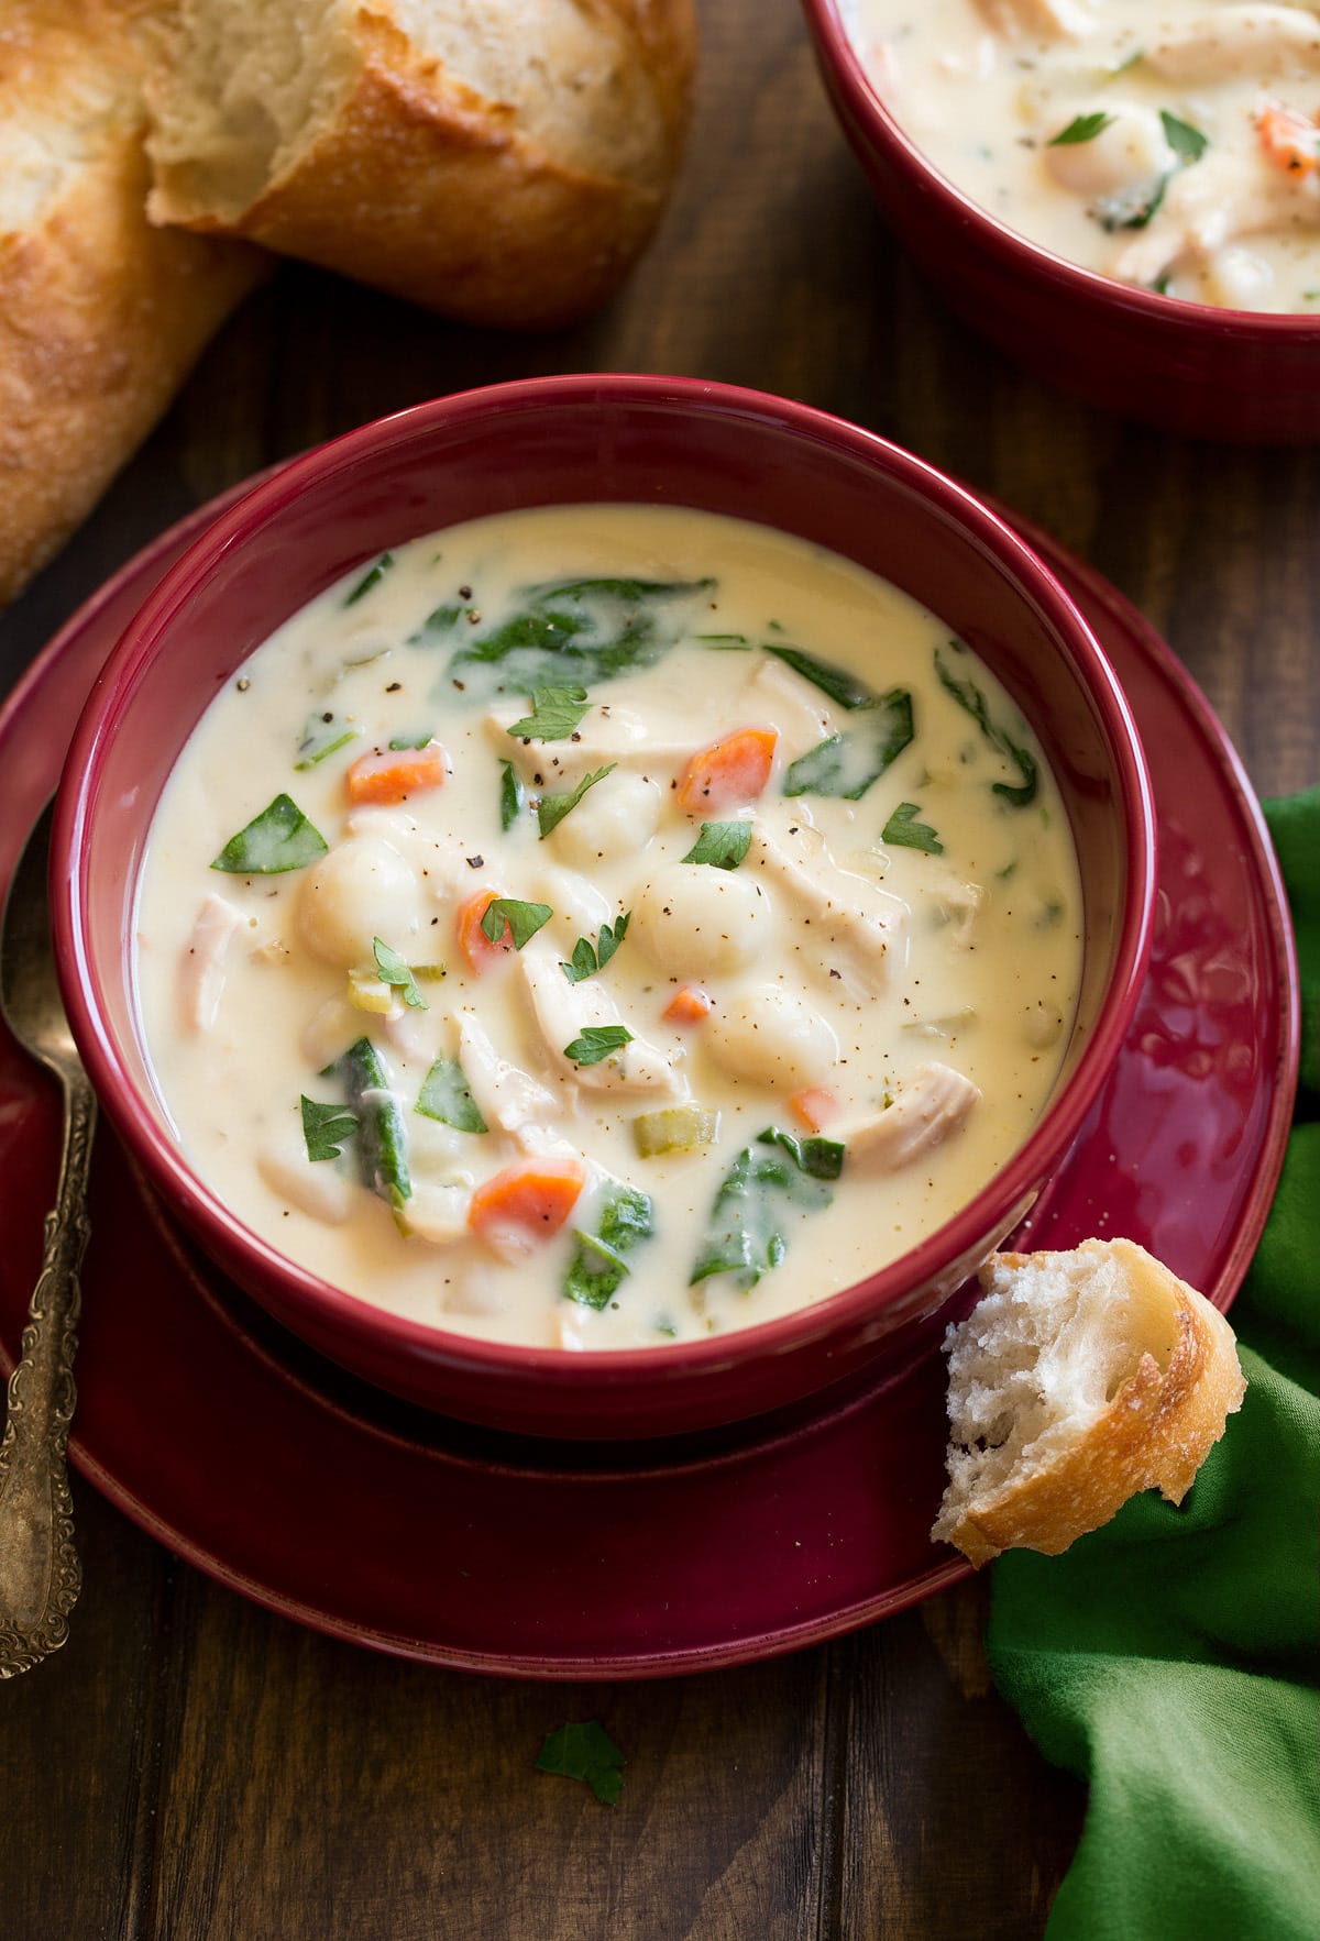
[{"label": "small torn bread chunk on saucer edge beside green napkin", "polygon": [[1182,1502],[1246,1382],[1233,1330],[1132,1240],[1000,1254],[951,1328],[949,1487],[932,1537],[1054,1557],[1141,1489]]}]

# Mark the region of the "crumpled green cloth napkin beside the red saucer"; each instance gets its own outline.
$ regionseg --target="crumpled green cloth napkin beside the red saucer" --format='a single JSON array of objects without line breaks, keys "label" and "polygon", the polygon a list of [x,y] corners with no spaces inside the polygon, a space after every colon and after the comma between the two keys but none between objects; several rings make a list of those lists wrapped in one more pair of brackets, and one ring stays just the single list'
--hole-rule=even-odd
[{"label": "crumpled green cloth napkin beside the red saucer", "polygon": [[994,1564],[990,1663],[1089,1780],[1046,1941],[1320,1941],[1320,788],[1266,806],[1303,976],[1279,1192],[1233,1308],[1248,1390],[1180,1508]]}]

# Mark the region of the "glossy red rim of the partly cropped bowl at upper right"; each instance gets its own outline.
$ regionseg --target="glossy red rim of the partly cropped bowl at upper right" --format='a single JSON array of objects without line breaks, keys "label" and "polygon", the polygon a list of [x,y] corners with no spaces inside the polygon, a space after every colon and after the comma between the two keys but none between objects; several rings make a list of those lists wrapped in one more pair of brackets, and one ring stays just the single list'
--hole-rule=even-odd
[{"label": "glossy red rim of the partly cropped bowl at upper right", "polygon": [[1033,243],[1021,229],[1011,229],[984,202],[976,202],[943,175],[907,134],[868,76],[852,35],[842,23],[839,0],[802,0],[802,8],[817,50],[829,62],[833,78],[846,95],[856,120],[862,126],[870,126],[893,149],[908,175],[920,177],[934,198],[945,204],[951,217],[984,231],[998,254],[1013,266],[1021,268],[1023,260],[1033,262],[1048,280],[1073,285],[1079,295],[1089,295],[1118,311],[1134,311],[1138,316],[1147,316],[1161,326],[1171,324],[1184,330],[1205,330],[1215,336],[1238,336],[1244,340],[1262,336],[1314,338],[1320,342],[1320,314],[1310,316],[1303,311],[1233,311],[1213,303],[1190,303],[1184,297],[1163,297],[1157,289],[1141,289],[1138,283],[1118,283],[1114,278],[1101,276],[1099,270],[1085,270],[1079,262],[1058,256],[1042,243]]}]

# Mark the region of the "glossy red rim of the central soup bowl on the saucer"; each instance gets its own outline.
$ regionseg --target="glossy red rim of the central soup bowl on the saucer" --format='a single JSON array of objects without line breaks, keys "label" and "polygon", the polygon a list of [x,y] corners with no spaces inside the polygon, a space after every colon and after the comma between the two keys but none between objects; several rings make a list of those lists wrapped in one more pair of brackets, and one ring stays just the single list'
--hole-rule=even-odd
[{"label": "glossy red rim of the central soup bowl on the saucer", "polygon": [[[1105,724],[1114,749],[1118,798],[1124,815],[1128,895],[1114,972],[1101,1000],[1091,1040],[1083,1048],[1075,1069],[1023,1145],[1009,1157],[1007,1165],[973,1200],[959,1207],[951,1219],[875,1273],[790,1314],[701,1341],[656,1343],[654,1347],[635,1349],[592,1349],[588,1355],[573,1355],[553,1347],[483,1341],[479,1335],[458,1333],[437,1324],[390,1314],[357,1295],[334,1287],[330,1281],[322,1281],[280,1254],[202,1184],[179,1147],[165,1135],[155,1106],[148,1102],[124,1069],[115,1036],[103,1019],[101,980],[87,959],[83,936],[83,831],[89,809],[95,807],[101,749],[115,734],[124,695],[134,685],[144,662],[153,658],[159,637],[182,613],[196,586],[221,557],[233,545],[241,545],[245,536],[256,526],[278,514],[283,505],[299,497],[309,481],[322,474],[351,470],[359,458],[375,452],[380,444],[427,439],[433,431],[474,415],[485,417],[495,411],[507,421],[518,410],[544,410],[553,404],[600,408],[611,402],[619,406],[670,408],[677,415],[699,411],[726,415],[732,421],[745,417],[771,419],[794,439],[842,446],[854,456],[868,458],[872,464],[879,462],[881,470],[897,476],[908,487],[916,487],[938,510],[945,516],[953,514],[963,528],[969,528],[973,538],[994,555],[998,565],[1007,569],[1025,600],[1046,615]],[[190,728],[192,724],[188,724]],[[353,1332],[365,1332],[377,1341],[396,1345],[408,1361],[468,1363],[485,1374],[514,1368],[524,1374],[555,1368],[557,1378],[563,1378],[569,1386],[590,1390],[610,1384],[611,1378],[629,1378],[643,1370],[650,1370],[656,1378],[677,1378],[703,1368],[712,1370],[730,1365],[730,1361],[743,1361],[763,1353],[775,1355],[788,1347],[808,1345],[823,1333],[835,1333],[841,1328],[862,1322],[887,1308],[912,1287],[934,1279],[941,1267],[947,1267],[961,1252],[969,1250],[988,1225],[992,1225],[990,1205],[998,1205],[1000,1213],[1006,1213],[1029,1198],[1042,1170],[1037,1155],[1044,1145],[1050,1145],[1058,1149],[1058,1161],[1062,1161],[1112,1068],[1139,998],[1155,906],[1155,811],[1138,730],[1099,641],[1044,561],[963,485],[957,485],[922,458],[891,444],[877,433],[833,417],[813,406],[796,404],[767,392],[701,378],[658,375],[545,377],[454,392],[448,398],[410,406],[390,417],[373,419],[369,425],[347,431],[289,460],[278,472],[260,477],[250,493],[221,512],[186,547],[124,629],[74,728],[54,809],[50,903],[60,984],[83,1062],[97,1093],[113,1101],[109,1110],[116,1128],[124,1132],[144,1170],[165,1196],[167,1203],[186,1205],[194,1225],[204,1234],[221,1233],[229,1248],[237,1246],[247,1252],[262,1277],[280,1283],[285,1306],[316,1310],[320,1316],[336,1314]]]}]

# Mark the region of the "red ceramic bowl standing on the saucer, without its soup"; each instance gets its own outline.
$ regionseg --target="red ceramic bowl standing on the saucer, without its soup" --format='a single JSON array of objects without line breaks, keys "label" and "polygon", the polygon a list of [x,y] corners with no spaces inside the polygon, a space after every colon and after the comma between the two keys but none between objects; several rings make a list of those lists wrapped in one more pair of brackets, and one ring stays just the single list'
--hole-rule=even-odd
[{"label": "red ceramic bowl standing on the saucer, without its soup", "polygon": [[[623,501],[759,520],[932,608],[1000,675],[1060,782],[1081,860],[1077,1019],[1042,1118],[905,1258],[800,1312],[695,1343],[565,1353],[386,1314],[285,1260],[171,1134],[134,994],[134,895],[161,788],[215,689],[314,594],[390,545],[487,512]],[[1124,1040],[1151,926],[1153,817],[1114,675],[1044,565],[967,491],[800,404],[660,377],[501,384],[309,452],[223,512],[161,580],[78,724],[52,856],[74,1035],[159,1201],[314,1349],[412,1401],[497,1429],[666,1434],[732,1423],[930,1351],[940,1308],[1023,1219]]]}]

